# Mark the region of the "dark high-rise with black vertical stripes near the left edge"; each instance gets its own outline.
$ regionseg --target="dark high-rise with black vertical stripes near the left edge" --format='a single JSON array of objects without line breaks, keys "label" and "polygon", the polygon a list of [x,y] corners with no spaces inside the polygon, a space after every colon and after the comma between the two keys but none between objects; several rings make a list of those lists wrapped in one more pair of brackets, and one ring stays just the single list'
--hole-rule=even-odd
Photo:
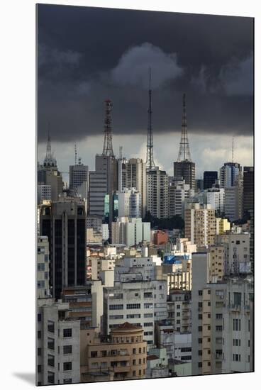
[{"label": "dark high-rise with black vertical stripes near the left edge", "polygon": [[84,285],[86,279],[86,213],[84,202],[64,198],[43,205],[40,235],[48,236],[51,294],[60,299],[64,287]]}]

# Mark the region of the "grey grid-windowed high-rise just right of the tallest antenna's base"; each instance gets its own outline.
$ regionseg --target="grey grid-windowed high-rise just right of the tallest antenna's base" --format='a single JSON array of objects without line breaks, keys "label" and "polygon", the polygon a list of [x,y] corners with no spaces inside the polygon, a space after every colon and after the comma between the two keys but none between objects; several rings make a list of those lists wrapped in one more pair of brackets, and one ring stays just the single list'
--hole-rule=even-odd
[{"label": "grey grid-windowed high-rise just right of the tallest antenna's base", "polygon": [[168,218],[168,177],[159,167],[147,171],[147,211],[155,218]]}]

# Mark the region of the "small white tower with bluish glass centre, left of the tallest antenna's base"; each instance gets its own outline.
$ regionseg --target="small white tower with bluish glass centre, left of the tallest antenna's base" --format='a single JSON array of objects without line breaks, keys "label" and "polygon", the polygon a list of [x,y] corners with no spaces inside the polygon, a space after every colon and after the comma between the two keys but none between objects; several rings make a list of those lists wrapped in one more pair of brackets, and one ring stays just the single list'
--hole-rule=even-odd
[{"label": "small white tower with bluish glass centre, left of the tallest antenna's base", "polygon": [[135,188],[123,188],[118,194],[118,217],[141,218],[141,194]]}]

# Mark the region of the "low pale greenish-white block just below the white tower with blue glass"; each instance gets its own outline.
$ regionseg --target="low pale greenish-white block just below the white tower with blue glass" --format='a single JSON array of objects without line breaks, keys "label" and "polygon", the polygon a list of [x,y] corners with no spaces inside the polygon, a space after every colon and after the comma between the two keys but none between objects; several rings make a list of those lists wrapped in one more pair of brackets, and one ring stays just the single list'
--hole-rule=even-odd
[{"label": "low pale greenish-white block just below the white tower with blue glass", "polygon": [[150,242],[150,222],[141,218],[117,218],[111,223],[111,243],[131,247],[143,241]]}]

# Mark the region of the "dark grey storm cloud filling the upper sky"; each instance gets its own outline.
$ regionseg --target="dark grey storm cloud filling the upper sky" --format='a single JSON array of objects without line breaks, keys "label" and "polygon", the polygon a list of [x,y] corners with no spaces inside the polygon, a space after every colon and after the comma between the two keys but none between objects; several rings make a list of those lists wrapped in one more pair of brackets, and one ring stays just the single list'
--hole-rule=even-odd
[{"label": "dark grey storm cloud filling the upper sky", "polygon": [[148,67],[155,133],[252,134],[252,19],[38,6],[38,140],[146,133]]}]

